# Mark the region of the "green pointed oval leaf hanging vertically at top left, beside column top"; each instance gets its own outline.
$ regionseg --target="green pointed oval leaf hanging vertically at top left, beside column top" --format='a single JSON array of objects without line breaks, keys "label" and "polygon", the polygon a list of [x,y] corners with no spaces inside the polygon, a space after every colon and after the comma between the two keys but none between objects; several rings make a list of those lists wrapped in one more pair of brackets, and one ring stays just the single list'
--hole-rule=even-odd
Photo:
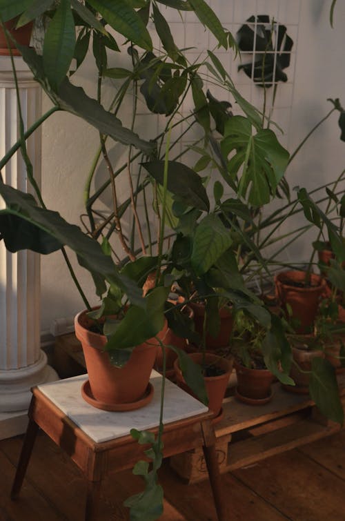
[{"label": "green pointed oval leaf hanging vertically at top left, beside column top", "polygon": [[43,68],[53,88],[66,76],[75,52],[75,21],[68,0],[61,0],[43,41]]}]

